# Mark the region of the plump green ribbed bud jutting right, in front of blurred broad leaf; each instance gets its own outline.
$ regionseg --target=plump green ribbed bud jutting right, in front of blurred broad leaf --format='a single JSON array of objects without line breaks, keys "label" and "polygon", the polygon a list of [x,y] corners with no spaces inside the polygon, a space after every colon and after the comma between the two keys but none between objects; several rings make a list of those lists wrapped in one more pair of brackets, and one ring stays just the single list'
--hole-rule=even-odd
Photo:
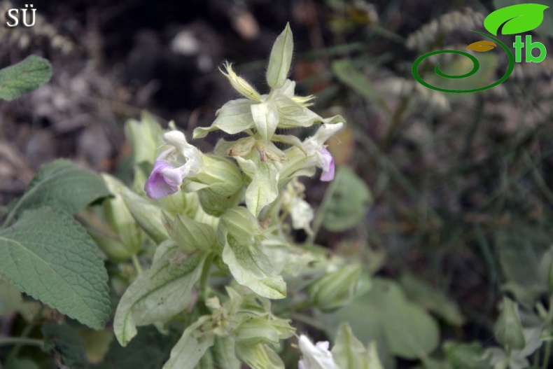
[{"label": "plump green ribbed bud jutting right, in front of blurred broad leaf", "polygon": [[355,297],[360,281],[361,266],[347,265],[325,274],[307,288],[307,294],[316,307],[330,312],[348,305]]}]

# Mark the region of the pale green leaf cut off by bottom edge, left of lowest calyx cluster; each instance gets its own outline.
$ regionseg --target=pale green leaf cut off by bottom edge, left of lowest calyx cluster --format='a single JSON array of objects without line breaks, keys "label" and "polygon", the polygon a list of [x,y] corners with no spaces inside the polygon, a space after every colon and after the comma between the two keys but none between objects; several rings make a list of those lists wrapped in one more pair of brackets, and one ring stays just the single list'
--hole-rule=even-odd
[{"label": "pale green leaf cut off by bottom edge, left of lowest calyx cluster", "polygon": [[194,369],[202,356],[215,342],[215,335],[207,327],[211,316],[202,316],[184,331],[179,342],[171,350],[169,361],[163,369]]}]

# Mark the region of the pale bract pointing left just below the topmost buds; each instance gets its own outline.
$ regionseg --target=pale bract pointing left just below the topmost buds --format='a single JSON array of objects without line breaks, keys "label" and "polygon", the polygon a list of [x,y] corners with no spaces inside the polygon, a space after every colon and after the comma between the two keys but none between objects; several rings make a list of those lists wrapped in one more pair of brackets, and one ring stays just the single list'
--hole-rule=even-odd
[{"label": "pale bract pointing left just below the topmost buds", "polygon": [[216,119],[210,127],[197,127],[194,130],[193,137],[201,139],[214,130],[222,130],[228,134],[237,134],[253,127],[253,117],[251,116],[252,102],[249,99],[236,99],[227,102],[215,115]]}]

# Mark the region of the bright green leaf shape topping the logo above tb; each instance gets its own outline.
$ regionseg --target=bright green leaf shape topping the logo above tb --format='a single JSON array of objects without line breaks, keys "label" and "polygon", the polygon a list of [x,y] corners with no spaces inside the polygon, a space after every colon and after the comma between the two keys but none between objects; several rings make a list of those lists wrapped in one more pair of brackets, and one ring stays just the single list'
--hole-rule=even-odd
[{"label": "bright green leaf shape topping the logo above tb", "polygon": [[543,12],[549,6],[542,4],[518,4],[500,8],[486,17],[484,27],[489,33],[497,36],[501,25],[502,34],[521,34],[541,25]]}]

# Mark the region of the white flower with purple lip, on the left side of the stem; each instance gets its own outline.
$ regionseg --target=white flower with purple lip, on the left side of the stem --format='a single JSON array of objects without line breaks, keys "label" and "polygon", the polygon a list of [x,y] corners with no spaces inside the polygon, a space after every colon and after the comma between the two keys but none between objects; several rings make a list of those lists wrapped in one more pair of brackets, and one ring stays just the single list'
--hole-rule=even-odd
[{"label": "white flower with purple lip, on the left side of the stem", "polygon": [[182,132],[167,132],[163,139],[174,147],[158,156],[144,185],[146,195],[153,199],[176,193],[183,180],[197,174],[202,167],[202,153],[186,142]]}]

